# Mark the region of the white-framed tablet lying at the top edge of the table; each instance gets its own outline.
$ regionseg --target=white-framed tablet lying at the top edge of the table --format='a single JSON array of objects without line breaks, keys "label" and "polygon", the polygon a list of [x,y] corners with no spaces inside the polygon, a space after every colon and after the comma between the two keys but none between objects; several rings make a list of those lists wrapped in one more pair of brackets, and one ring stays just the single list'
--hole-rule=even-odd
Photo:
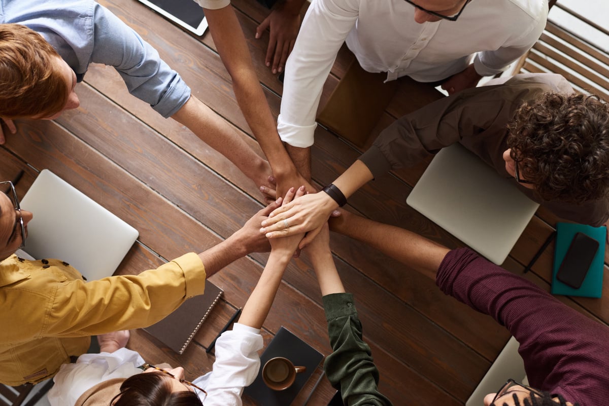
[{"label": "white-framed tablet lying at the top edge of the table", "polygon": [[202,36],[207,29],[203,7],[192,0],[138,0],[150,9],[189,30]]}]

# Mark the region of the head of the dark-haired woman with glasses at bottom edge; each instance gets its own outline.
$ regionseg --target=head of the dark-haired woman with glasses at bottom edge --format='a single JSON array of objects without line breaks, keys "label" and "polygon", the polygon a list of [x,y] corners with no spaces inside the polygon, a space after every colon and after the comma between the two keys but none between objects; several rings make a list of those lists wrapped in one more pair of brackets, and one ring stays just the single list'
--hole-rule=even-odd
[{"label": "head of the dark-haired woman with glasses at bottom edge", "polygon": [[203,390],[184,379],[184,368],[145,368],[143,373],[125,379],[111,406],[203,406],[195,388]]}]

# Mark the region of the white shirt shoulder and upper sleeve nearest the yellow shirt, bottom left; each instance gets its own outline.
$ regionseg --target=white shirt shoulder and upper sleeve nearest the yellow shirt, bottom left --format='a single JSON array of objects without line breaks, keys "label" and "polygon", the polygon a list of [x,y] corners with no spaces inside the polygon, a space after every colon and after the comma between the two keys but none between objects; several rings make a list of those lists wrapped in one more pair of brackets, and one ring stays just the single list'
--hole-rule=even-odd
[{"label": "white shirt shoulder and upper sleeve nearest the yellow shirt, bottom left", "polygon": [[77,399],[90,388],[114,378],[127,378],[142,372],[138,366],[144,359],[127,348],[114,353],[83,354],[76,363],[65,363],[53,380],[49,390],[51,406],[73,406]]}]

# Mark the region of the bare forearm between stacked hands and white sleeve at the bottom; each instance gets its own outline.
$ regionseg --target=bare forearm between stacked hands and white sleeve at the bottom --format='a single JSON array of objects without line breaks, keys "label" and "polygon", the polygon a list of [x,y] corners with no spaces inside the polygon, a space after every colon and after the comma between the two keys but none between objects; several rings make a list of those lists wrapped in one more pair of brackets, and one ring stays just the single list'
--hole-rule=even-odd
[{"label": "bare forearm between stacked hands and white sleeve at the bottom", "polygon": [[291,258],[291,253],[271,252],[262,275],[245,303],[239,323],[253,328],[261,328],[275,300],[281,284],[283,272]]}]

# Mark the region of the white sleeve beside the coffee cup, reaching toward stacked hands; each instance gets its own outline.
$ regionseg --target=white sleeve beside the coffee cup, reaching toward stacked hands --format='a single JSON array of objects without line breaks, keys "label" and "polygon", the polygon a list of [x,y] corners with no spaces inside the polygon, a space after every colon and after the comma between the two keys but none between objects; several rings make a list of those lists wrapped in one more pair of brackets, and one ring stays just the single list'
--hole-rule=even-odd
[{"label": "white sleeve beside the coffee cup, reaching toward stacked hands", "polygon": [[259,329],[239,323],[220,335],[213,370],[193,381],[207,391],[205,406],[242,405],[243,388],[258,376],[263,345]]}]

